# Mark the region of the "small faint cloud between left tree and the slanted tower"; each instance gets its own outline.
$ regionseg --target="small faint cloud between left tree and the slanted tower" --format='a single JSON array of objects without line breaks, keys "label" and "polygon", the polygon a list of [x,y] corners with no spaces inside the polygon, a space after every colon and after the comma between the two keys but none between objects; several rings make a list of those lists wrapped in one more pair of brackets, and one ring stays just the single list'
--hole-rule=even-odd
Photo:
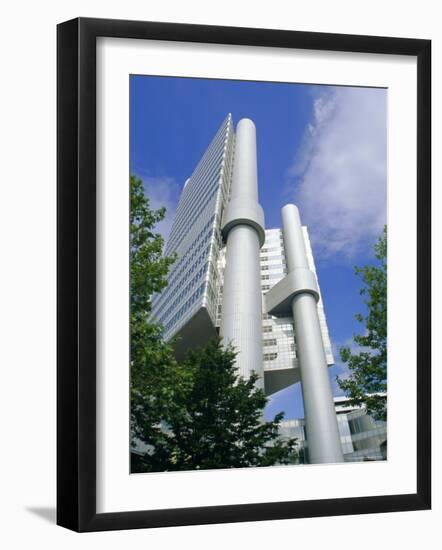
[{"label": "small faint cloud between left tree and the slanted tower", "polygon": [[178,205],[180,189],[174,178],[140,176],[144,183],[146,196],[149,197],[152,209],[166,208],[166,216],[156,226],[156,231],[161,233],[165,242],[172,228],[173,217]]}]

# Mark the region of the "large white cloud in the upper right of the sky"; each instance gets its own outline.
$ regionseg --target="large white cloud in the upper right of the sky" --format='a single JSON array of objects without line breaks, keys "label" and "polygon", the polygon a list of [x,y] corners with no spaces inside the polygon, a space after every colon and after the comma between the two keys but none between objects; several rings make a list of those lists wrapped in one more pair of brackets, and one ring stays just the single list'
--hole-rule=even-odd
[{"label": "large white cloud in the upper right of the sky", "polygon": [[327,88],[290,169],[317,257],[353,258],[386,223],[386,90]]}]

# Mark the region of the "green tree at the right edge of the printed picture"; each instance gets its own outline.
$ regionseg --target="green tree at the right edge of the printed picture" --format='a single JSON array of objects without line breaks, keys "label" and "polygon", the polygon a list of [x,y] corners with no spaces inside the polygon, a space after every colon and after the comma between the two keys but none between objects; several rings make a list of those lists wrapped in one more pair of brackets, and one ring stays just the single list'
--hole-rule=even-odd
[{"label": "green tree at the right edge of the printed picture", "polygon": [[387,401],[376,395],[387,391],[387,228],[374,245],[376,265],[356,267],[364,286],[360,290],[367,306],[366,315],[357,314],[364,325],[363,334],[355,334],[357,351],[340,349],[341,360],[348,364],[350,376],[336,377],[339,387],[353,405],[365,404],[377,420],[387,419]]}]

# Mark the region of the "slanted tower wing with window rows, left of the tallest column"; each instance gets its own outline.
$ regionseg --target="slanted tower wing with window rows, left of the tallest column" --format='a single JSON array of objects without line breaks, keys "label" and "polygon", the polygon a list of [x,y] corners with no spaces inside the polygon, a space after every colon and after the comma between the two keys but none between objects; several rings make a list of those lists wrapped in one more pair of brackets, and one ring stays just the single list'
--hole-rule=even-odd
[{"label": "slanted tower wing with window rows, left of the tallest column", "polygon": [[177,355],[204,345],[217,332],[221,219],[232,179],[235,134],[231,115],[222,123],[185,182],[165,254],[177,260],[168,285],[153,299],[152,316],[165,338],[177,336]]}]

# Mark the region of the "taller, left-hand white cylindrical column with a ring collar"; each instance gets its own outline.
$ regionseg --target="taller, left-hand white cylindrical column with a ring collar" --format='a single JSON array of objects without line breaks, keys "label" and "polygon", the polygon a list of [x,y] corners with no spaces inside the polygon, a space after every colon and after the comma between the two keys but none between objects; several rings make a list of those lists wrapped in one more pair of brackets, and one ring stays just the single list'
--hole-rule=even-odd
[{"label": "taller, left-hand white cylindrical column with a ring collar", "polygon": [[262,363],[262,295],[259,249],[264,216],[258,204],[256,130],[251,120],[237,126],[230,202],[222,228],[226,267],[221,319],[223,342],[237,352],[239,374],[255,371],[264,387]]}]

